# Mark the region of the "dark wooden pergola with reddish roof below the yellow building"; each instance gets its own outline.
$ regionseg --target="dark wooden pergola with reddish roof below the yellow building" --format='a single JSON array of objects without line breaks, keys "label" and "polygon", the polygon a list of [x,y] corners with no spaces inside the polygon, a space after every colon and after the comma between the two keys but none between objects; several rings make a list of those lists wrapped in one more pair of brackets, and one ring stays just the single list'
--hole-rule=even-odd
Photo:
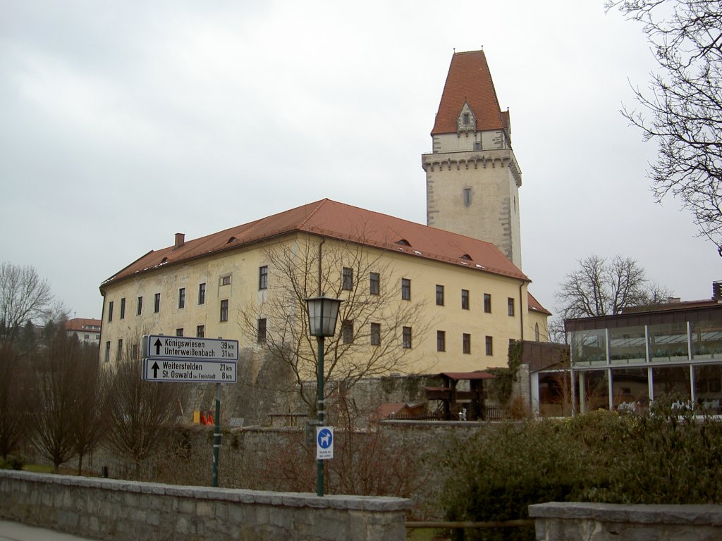
[{"label": "dark wooden pergola with reddish roof below the yellow building", "polygon": [[[489,372],[477,370],[474,372],[442,372],[436,377],[441,379],[441,387],[426,387],[427,400],[440,400],[443,408],[443,417],[446,421],[458,421],[459,413],[466,408],[464,417],[467,421],[482,420],[486,418],[484,406],[484,379],[494,379]],[[456,388],[458,382],[468,381],[469,390],[460,391]],[[459,416],[452,418],[452,415]]]}]

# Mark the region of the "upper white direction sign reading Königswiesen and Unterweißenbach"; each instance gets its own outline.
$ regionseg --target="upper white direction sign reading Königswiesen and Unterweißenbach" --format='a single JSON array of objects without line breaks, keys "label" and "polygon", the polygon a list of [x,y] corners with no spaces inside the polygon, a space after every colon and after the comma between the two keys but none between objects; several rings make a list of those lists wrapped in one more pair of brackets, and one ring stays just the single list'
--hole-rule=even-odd
[{"label": "upper white direction sign reading K\u00f6nigswiesen and Unterwei\u00dfenbach", "polygon": [[238,361],[238,340],[144,335],[144,359]]}]

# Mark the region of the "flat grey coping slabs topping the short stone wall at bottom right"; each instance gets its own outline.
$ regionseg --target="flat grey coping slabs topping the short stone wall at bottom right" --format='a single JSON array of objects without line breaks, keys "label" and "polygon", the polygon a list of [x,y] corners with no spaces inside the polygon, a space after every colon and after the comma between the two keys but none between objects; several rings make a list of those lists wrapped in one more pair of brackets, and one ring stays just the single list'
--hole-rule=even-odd
[{"label": "flat grey coping slabs topping the short stone wall at bottom right", "polygon": [[722,525],[722,506],[712,504],[667,505],[622,503],[558,502],[529,506],[534,519],[594,519],[598,522],[640,524]]}]

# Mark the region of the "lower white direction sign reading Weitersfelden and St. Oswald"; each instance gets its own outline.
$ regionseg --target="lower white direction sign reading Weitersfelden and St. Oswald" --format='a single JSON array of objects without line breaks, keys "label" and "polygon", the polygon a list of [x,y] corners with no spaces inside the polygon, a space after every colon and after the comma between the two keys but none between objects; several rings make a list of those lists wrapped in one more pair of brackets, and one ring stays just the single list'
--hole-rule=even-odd
[{"label": "lower white direction sign reading Weitersfelden and St. Oswald", "polygon": [[143,359],[143,379],[149,382],[235,383],[234,361]]}]

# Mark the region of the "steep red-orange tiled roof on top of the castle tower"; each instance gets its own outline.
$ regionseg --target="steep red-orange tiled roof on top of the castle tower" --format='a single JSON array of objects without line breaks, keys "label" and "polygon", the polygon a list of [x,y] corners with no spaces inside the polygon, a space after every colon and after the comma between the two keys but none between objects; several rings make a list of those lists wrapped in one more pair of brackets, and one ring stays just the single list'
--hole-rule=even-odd
[{"label": "steep red-orange tiled roof on top of the castle tower", "polygon": [[477,118],[477,130],[508,128],[508,113],[502,113],[497,100],[492,74],[483,50],[454,53],[446,83],[441,94],[432,135],[456,133],[458,115],[464,102],[469,102]]}]

